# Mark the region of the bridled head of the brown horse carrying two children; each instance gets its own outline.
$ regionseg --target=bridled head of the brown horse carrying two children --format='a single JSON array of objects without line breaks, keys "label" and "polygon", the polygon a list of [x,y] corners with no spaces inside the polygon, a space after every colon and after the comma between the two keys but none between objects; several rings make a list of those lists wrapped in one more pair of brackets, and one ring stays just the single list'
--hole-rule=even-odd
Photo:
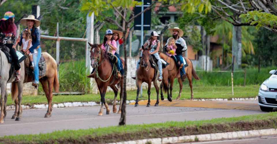
[{"label": "bridled head of the brown horse carrying two children", "polygon": [[95,68],[98,65],[98,62],[101,60],[101,45],[89,43],[90,48],[90,60],[91,67]]}]

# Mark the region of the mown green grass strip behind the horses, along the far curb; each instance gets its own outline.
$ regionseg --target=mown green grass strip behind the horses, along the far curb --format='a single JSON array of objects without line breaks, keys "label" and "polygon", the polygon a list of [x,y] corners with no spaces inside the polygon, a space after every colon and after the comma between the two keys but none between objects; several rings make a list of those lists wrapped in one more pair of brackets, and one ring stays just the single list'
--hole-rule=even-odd
[{"label": "mown green grass strip behind the horses, along the far curb", "polygon": [[[232,96],[231,86],[195,86],[193,88],[194,98],[250,98],[255,97],[258,94],[259,85],[249,85],[249,86],[234,86],[234,96]],[[178,96],[179,85],[173,87],[173,99]],[[167,97],[164,94],[165,98]],[[113,92],[106,93],[106,101],[112,101],[114,97]],[[151,99],[156,99],[156,90],[155,88],[151,89]],[[187,85],[183,86],[181,99],[190,98],[190,87]],[[117,100],[119,100],[119,93]],[[127,92],[127,100],[136,99],[136,90]],[[148,99],[147,90],[143,90],[143,97],[139,98]],[[53,96],[53,103],[62,103],[62,102],[87,102],[87,101],[96,101],[100,102],[100,94],[85,94],[85,95],[57,95]],[[44,95],[38,96],[23,96],[22,104],[31,105],[31,104],[46,104],[47,99]],[[11,96],[8,96],[7,105],[12,105]]]}]

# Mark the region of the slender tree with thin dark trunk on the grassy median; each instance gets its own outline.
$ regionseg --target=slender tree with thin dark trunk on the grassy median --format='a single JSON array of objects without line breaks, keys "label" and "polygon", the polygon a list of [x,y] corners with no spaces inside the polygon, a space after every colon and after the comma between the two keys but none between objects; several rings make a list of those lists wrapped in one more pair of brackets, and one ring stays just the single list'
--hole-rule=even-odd
[{"label": "slender tree with thin dark trunk on the grassy median", "polygon": [[[207,13],[209,10],[211,10],[211,3],[208,0],[155,0],[152,1],[152,4],[146,8],[143,12],[151,9],[156,3],[166,3],[169,5],[181,5],[181,10],[187,10],[190,13],[194,13],[196,11],[196,7],[198,7],[199,12],[203,11],[203,8],[205,6],[205,12]],[[205,3],[204,3],[205,2]],[[94,12],[96,16],[100,14],[101,12],[108,12],[112,13],[113,18],[112,19],[118,19],[121,18],[122,25],[120,25],[117,21],[115,21],[115,24],[123,30],[123,35],[126,33],[127,26],[133,22],[134,18],[139,16],[141,13],[137,15],[131,15],[131,8],[141,5],[138,1],[133,0],[82,0],[81,1],[81,8],[80,10],[89,13],[89,15]],[[168,5],[168,6],[169,6]],[[127,14],[130,14],[129,17]],[[100,18],[103,20],[103,18]],[[110,21],[109,17],[105,18],[104,20]],[[114,21],[113,21],[114,22]],[[123,104],[121,109],[121,118],[119,121],[119,125],[125,125],[126,124],[126,76],[127,76],[127,51],[126,51],[126,41],[123,43],[124,48],[124,59],[125,59],[125,67],[124,67],[124,79],[123,79]]]}]

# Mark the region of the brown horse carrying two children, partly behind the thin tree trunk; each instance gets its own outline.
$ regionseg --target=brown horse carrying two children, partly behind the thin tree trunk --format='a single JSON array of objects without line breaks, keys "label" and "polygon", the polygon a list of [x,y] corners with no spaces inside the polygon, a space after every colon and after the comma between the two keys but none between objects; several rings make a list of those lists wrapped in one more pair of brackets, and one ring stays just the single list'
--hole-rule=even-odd
[{"label": "brown horse carrying two children, partly behind the thin tree trunk", "polygon": [[[108,86],[113,89],[115,93],[114,100],[113,100],[113,113],[116,113],[116,98],[118,89],[115,85],[120,84],[120,105],[118,113],[121,113],[121,106],[122,106],[122,94],[123,94],[123,77],[117,78],[116,75],[113,74],[115,71],[115,63],[113,66],[110,64],[110,60],[108,55],[102,50],[101,44],[91,44],[89,43],[90,48],[90,59],[91,59],[91,67],[95,69],[96,76],[94,77],[98,90],[101,96],[101,108],[98,112],[98,115],[103,115],[103,105],[106,107],[106,114],[110,114],[110,109],[108,104],[105,102],[105,94]],[[124,60],[121,58],[123,68],[124,68]],[[122,75],[123,76],[123,75]]]}]

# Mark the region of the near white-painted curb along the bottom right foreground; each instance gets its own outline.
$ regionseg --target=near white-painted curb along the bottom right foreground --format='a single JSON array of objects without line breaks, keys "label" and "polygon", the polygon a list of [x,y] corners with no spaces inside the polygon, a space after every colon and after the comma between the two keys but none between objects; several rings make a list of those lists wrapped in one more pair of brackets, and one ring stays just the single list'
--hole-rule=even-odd
[{"label": "near white-painted curb along the bottom right foreground", "polygon": [[277,129],[272,128],[272,129],[263,129],[263,130],[245,130],[245,131],[237,131],[237,132],[188,135],[188,136],[180,136],[180,137],[141,139],[141,140],[134,140],[134,141],[108,143],[108,144],[145,144],[147,142],[151,142],[152,144],[184,143],[184,142],[193,142],[193,141],[216,141],[216,140],[224,140],[224,139],[262,137],[262,136],[276,135],[276,134],[277,134]]}]

